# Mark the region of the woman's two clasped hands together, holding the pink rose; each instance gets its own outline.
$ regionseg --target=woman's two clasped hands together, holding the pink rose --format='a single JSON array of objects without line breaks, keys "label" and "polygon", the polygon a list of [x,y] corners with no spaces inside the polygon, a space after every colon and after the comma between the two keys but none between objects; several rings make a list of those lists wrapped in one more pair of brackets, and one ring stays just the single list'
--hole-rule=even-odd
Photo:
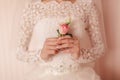
[{"label": "woman's two clasped hands together, holding the pink rose", "polygon": [[59,51],[71,53],[77,59],[80,56],[80,41],[70,36],[48,38],[44,43],[40,56],[42,59],[48,60]]}]

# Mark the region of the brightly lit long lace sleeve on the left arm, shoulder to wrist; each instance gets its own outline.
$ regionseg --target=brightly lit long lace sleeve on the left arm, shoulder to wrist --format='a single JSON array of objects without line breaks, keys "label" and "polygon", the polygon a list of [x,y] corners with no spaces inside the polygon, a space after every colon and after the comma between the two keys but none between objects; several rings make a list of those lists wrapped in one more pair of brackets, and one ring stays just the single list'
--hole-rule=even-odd
[{"label": "brightly lit long lace sleeve on the left arm, shoulder to wrist", "polygon": [[40,60],[40,49],[29,50],[29,43],[32,37],[32,32],[35,25],[35,10],[30,3],[23,12],[21,27],[20,27],[20,39],[17,48],[17,58],[33,63]]}]

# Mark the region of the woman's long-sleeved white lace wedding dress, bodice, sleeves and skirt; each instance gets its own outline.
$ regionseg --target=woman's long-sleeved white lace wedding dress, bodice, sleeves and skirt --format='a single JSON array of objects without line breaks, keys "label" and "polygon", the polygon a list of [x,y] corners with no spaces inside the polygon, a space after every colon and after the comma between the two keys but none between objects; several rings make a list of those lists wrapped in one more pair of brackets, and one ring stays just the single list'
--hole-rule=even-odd
[{"label": "woman's long-sleeved white lace wedding dress, bodice, sleeves and skirt", "polygon": [[[49,61],[40,57],[46,38],[57,37],[58,23],[71,17],[70,33],[80,39],[80,57],[59,52]],[[25,9],[21,37],[17,49],[18,59],[38,64],[24,80],[100,80],[93,63],[104,52],[99,15],[93,0],[43,3],[31,2]]]}]

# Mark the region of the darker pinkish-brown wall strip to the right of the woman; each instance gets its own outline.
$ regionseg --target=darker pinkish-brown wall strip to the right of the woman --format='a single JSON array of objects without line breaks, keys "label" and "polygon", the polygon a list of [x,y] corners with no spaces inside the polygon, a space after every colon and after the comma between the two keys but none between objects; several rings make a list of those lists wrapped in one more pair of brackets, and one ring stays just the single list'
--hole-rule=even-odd
[{"label": "darker pinkish-brown wall strip to the right of the woman", "polygon": [[120,80],[120,0],[102,0],[108,51],[101,61],[105,80]]}]

